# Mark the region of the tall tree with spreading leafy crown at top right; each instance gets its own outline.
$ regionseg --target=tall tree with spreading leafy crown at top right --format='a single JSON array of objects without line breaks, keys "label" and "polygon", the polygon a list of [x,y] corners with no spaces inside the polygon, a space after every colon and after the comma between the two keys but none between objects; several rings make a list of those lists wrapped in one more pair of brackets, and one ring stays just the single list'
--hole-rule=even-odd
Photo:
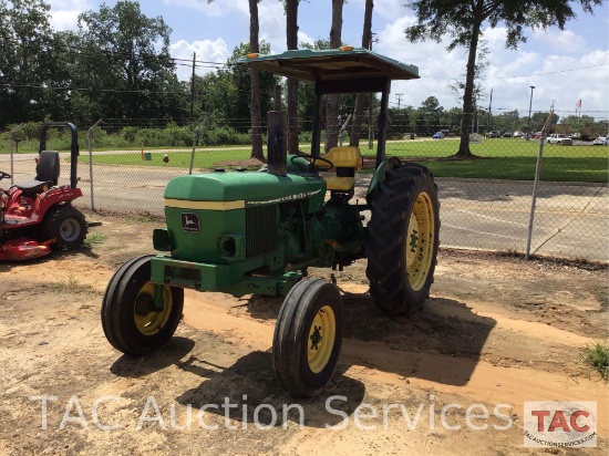
[{"label": "tall tree with spreading leafy crown at top right", "polygon": [[591,13],[592,7],[602,4],[603,0],[415,0],[406,4],[406,8],[411,8],[416,14],[416,23],[405,30],[411,42],[426,39],[440,42],[448,35],[448,51],[458,45],[467,48],[463,121],[457,156],[472,156],[467,128],[475,111],[474,75],[483,25],[487,23],[494,29],[504,24],[507,29],[506,48],[517,49],[519,42],[526,41],[526,28],[547,29],[558,25],[562,30],[567,20],[576,15],[571,8],[571,3],[575,2],[581,4],[585,12]]}]

